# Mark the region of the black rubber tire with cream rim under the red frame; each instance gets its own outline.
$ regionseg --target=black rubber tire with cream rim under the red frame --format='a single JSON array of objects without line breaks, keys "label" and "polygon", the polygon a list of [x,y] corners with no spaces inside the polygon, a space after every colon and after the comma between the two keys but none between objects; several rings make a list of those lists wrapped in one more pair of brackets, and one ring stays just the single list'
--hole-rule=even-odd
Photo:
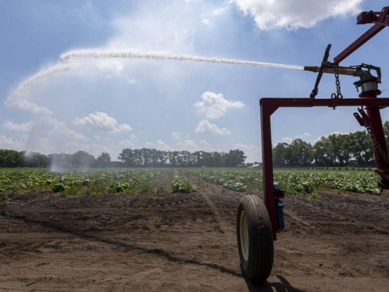
[{"label": "black rubber tire with cream rim under the red frame", "polygon": [[[242,212],[244,212],[243,217]],[[247,226],[241,227],[241,221],[244,224],[245,218]],[[244,235],[246,237],[242,242],[241,237]],[[266,281],[273,267],[273,232],[267,209],[256,195],[243,196],[239,202],[237,238],[242,273],[252,282],[262,283]],[[245,242],[248,242],[248,246]]]}]

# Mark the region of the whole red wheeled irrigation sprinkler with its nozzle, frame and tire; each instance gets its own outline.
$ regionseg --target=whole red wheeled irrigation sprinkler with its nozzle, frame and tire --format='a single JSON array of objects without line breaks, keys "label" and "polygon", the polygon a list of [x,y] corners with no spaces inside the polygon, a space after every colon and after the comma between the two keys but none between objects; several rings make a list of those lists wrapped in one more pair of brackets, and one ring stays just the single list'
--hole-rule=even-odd
[{"label": "whole red wheeled irrigation sprinkler with its nozzle, frame and tire", "polygon": [[[315,87],[309,98],[261,98],[261,133],[262,133],[262,170],[263,202],[255,195],[242,197],[237,214],[238,251],[242,272],[254,282],[263,282],[270,275],[273,267],[274,240],[284,227],[282,198],[284,192],[274,184],[273,157],[271,148],[270,116],[280,107],[314,107],[360,106],[355,118],[361,126],[366,127],[371,135],[376,172],[380,175],[378,186],[389,189],[389,158],[385,136],[382,128],[380,109],[389,106],[389,98],[377,98],[381,94],[379,67],[362,63],[357,66],[343,67],[339,63],[359,47],[369,41],[385,26],[389,26],[389,6],[381,12],[362,12],[357,17],[357,24],[374,23],[355,42],[345,48],[333,62],[328,61],[331,45],[328,45],[320,66],[305,66],[304,70],[318,72]],[[375,72],[373,74],[373,71]],[[331,98],[316,98],[323,73],[334,74],[336,93]],[[343,98],[340,90],[339,75],[358,77],[354,85],[361,89],[359,98]],[[365,111],[366,110],[366,111]]]}]

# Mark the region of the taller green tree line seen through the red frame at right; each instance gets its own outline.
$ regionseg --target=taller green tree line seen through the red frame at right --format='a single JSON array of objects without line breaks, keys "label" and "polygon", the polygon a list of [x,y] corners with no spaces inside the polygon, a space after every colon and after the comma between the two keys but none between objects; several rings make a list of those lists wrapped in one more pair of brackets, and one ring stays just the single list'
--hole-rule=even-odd
[{"label": "taller green tree line seen through the red frame at right", "polygon": [[[388,144],[388,121],[383,124],[383,130]],[[366,131],[357,131],[323,136],[314,145],[301,139],[294,139],[290,144],[278,143],[273,147],[273,163],[275,167],[374,166],[371,137]]]}]

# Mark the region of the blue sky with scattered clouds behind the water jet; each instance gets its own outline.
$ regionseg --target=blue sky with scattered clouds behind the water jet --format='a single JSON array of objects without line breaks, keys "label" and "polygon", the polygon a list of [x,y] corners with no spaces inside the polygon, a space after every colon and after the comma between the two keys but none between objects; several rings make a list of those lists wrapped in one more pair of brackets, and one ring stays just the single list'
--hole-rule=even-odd
[{"label": "blue sky with scattered clouds behind the water jet", "polygon": [[[131,51],[319,65],[371,25],[361,11],[385,1],[176,0],[1,2],[0,148],[45,154],[124,148],[228,151],[261,161],[259,99],[308,97],[316,74],[292,69],[146,59],[60,59],[74,50]],[[381,67],[387,96],[389,29],[341,65]],[[340,77],[357,97],[352,77]],[[335,91],[324,76],[319,98]],[[362,130],[355,108],[279,109],[273,144],[314,143]],[[383,121],[388,111],[381,112]]]}]

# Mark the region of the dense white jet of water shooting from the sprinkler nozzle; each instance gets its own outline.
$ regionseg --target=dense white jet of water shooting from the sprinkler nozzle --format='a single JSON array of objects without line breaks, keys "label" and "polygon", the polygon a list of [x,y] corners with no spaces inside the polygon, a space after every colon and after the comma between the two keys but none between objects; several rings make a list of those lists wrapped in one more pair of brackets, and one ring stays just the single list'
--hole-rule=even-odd
[{"label": "dense white jet of water shooting from the sprinkler nozzle", "polygon": [[225,59],[225,58],[205,58],[200,56],[187,56],[187,55],[135,53],[129,51],[77,50],[77,51],[70,51],[64,53],[61,55],[60,58],[64,61],[69,61],[71,58],[140,58],[140,59],[159,59],[159,60],[239,64],[239,65],[251,65],[251,66],[288,68],[288,69],[297,69],[297,70],[304,69],[304,66],[278,64],[278,63],[266,63],[266,62],[245,61],[245,60],[237,60],[237,59]]}]

